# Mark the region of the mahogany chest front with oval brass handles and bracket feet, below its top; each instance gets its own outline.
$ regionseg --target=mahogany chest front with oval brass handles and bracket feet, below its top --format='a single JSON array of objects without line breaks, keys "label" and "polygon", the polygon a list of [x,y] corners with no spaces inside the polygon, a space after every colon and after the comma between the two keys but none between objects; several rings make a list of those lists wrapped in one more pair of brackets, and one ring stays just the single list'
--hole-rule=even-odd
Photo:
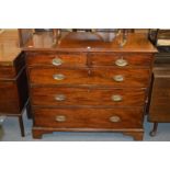
[{"label": "mahogany chest front with oval brass handles and bracket feet, below its top", "polygon": [[121,132],[143,139],[152,53],[26,52],[33,137]]}]

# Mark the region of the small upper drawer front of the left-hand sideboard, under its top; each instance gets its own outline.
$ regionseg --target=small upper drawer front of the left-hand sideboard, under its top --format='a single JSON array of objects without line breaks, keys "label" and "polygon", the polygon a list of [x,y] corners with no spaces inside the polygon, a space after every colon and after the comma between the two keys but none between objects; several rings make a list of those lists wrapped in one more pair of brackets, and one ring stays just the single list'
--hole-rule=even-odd
[{"label": "small upper drawer front of the left-hand sideboard, under its top", "polygon": [[15,75],[12,66],[0,66],[0,79],[14,79]]}]

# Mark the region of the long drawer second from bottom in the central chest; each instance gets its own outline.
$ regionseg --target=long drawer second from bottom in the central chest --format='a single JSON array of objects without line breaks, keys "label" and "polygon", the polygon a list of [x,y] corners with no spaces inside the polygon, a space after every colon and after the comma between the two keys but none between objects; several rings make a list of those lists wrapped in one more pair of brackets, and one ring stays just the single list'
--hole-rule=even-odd
[{"label": "long drawer second from bottom in the central chest", "polygon": [[145,90],[89,88],[32,88],[32,104],[41,106],[95,105],[141,106]]}]

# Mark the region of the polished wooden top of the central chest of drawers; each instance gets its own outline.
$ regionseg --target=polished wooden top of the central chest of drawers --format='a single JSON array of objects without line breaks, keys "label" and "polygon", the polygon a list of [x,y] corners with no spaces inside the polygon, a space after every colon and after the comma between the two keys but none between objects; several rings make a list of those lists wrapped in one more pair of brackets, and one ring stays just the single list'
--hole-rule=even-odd
[{"label": "polished wooden top of the central chest of drawers", "polygon": [[[111,35],[112,36],[112,35]],[[111,37],[110,36],[110,37]],[[114,36],[114,35],[113,35]],[[50,32],[34,34],[33,38],[23,47],[25,50],[69,50],[69,52],[140,52],[157,53],[157,49],[147,39],[146,34],[132,33],[127,36],[124,47],[120,46],[121,35],[112,42],[107,41],[106,33],[63,33],[58,43],[54,44]]]}]

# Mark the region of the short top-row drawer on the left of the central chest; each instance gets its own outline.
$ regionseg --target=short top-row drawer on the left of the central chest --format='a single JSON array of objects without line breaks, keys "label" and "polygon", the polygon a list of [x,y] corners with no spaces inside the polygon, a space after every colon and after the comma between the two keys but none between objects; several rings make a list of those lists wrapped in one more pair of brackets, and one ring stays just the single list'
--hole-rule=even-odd
[{"label": "short top-row drawer on the left of the central chest", "polygon": [[84,54],[30,54],[29,66],[54,66],[54,67],[84,67],[87,56]]}]

